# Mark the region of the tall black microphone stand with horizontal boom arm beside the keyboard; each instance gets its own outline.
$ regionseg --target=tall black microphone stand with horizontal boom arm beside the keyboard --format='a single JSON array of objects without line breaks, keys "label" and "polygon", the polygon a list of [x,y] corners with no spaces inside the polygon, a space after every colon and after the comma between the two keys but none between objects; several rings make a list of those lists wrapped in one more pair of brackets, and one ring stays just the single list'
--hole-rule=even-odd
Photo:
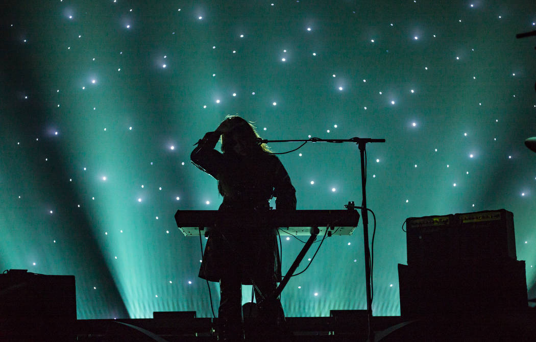
[{"label": "tall black microphone stand with horizontal boom arm beside the keyboard", "polygon": [[372,329],[372,286],[371,286],[371,265],[370,265],[370,248],[368,238],[368,212],[367,212],[367,173],[365,169],[365,147],[367,143],[385,143],[385,139],[358,138],[351,139],[319,139],[310,138],[307,140],[264,140],[259,139],[260,144],[266,143],[355,143],[358,145],[361,156],[361,189],[363,195],[363,204],[361,205],[361,217],[363,218],[363,243],[365,253],[365,277],[367,286],[367,318],[368,318],[368,342],[374,341],[374,331]]}]

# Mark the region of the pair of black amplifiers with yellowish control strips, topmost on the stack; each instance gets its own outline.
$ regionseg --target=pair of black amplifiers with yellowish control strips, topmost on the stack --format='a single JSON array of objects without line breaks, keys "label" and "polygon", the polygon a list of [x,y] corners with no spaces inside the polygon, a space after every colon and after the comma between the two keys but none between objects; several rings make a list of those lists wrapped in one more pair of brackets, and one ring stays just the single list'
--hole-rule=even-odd
[{"label": "pair of black amplifiers with yellowish control strips, topmost on the stack", "polygon": [[407,264],[452,265],[466,259],[516,260],[513,214],[507,210],[406,220]]}]

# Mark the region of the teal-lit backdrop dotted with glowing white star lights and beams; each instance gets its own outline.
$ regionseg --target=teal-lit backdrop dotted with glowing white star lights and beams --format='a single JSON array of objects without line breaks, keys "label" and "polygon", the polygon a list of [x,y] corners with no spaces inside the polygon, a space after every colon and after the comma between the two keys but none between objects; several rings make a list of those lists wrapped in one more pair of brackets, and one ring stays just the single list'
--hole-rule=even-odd
[{"label": "teal-lit backdrop dotted with glowing white star lights and beams", "polygon": [[[423,215],[513,212],[534,297],[536,38],[515,38],[534,3],[271,1],[4,2],[0,268],[75,275],[78,318],[212,316],[174,214],[218,208],[189,155],[239,114],[265,139],[386,139],[367,146],[374,315],[400,314],[401,227]],[[281,155],[298,209],[360,204],[358,152]],[[301,247],[282,237],[284,270]],[[324,241],[286,315],[365,309],[363,260],[361,222]]]}]

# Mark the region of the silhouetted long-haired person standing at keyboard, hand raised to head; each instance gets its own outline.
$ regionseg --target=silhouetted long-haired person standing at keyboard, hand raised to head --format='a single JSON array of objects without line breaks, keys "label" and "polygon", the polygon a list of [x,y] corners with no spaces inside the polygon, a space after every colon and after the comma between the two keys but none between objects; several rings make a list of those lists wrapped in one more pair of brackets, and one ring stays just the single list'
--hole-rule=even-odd
[{"label": "silhouetted long-haired person standing at keyboard, hand raised to head", "polygon": [[[214,149],[220,136],[222,153]],[[262,222],[247,226],[240,220],[244,213],[270,210],[272,197],[276,197],[276,209],[296,209],[296,190],[287,171],[279,158],[266,152],[268,148],[259,143],[251,124],[240,116],[228,116],[214,132],[206,133],[191,153],[192,162],[218,180],[224,197],[219,213],[234,222],[211,233],[199,270],[199,277],[220,282],[221,341],[242,338],[242,284],[256,286],[258,315],[266,329],[263,336],[279,341],[277,334],[285,320],[279,299],[262,301],[281,281],[277,230]]]}]

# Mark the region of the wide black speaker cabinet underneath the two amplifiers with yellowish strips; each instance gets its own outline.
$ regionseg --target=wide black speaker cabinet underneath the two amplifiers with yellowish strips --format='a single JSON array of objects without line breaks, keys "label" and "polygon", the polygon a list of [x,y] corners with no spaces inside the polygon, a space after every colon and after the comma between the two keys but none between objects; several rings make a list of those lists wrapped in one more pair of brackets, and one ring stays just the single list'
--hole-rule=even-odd
[{"label": "wide black speaker cabinet underneath the two amplifiers with yellowish strips", "polygon": [[400,314],[405,318],[528,308],[524,261],[473,259],[435,269],[399,264],[398,277]]}]

